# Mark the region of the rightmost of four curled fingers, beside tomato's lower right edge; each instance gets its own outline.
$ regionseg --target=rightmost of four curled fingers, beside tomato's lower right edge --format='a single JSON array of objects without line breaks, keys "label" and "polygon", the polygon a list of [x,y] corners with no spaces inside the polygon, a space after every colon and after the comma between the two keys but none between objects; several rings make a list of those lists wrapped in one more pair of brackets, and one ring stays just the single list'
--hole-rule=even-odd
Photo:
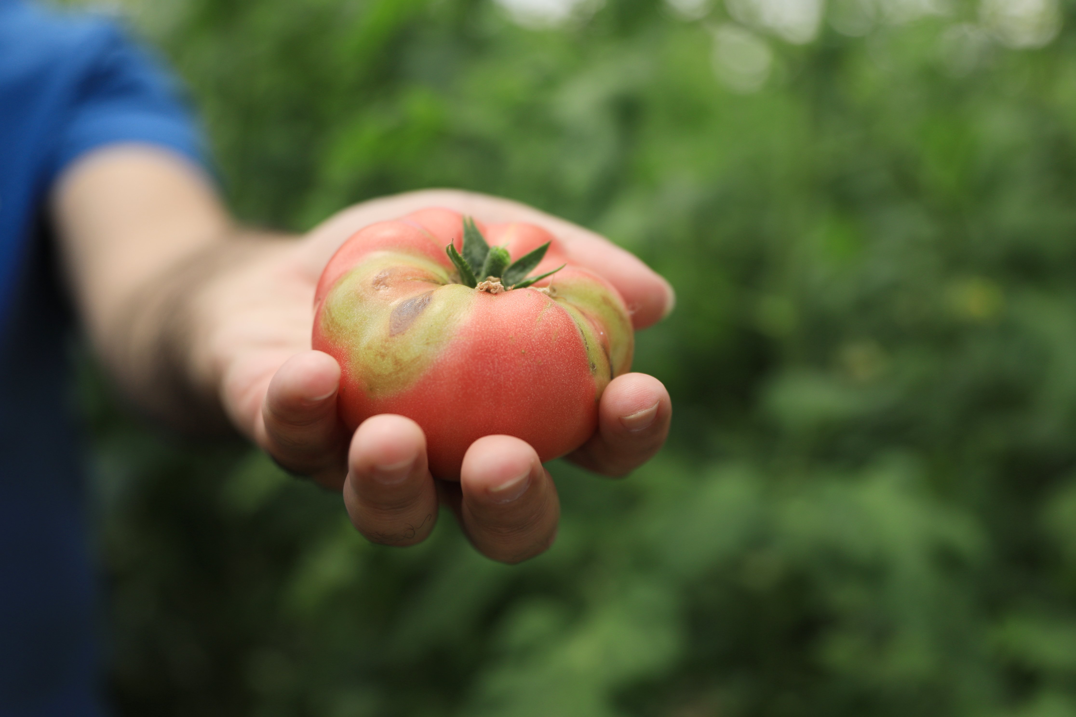
[{"label": "rightmost of four curled fingers, beside tomato's lower right edge", "polygon": [[601,393],[598,430],[568,458],[603,475],[626,475],[661,449],[671,418],[662,382],[645,373],[617,376]]}]

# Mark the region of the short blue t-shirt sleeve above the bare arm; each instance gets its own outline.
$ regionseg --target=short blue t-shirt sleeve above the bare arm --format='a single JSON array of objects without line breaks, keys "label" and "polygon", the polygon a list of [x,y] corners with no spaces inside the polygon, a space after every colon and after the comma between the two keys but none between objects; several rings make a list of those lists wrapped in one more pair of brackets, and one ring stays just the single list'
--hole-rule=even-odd
[{"label": "short blue t-shirt sleeve above the bare arm", "polygon": [[111,25],[94,45],[57,138],[53,176],[87,152],[128,142],[166,147],[209,170],[201,132],[155,58]]}]

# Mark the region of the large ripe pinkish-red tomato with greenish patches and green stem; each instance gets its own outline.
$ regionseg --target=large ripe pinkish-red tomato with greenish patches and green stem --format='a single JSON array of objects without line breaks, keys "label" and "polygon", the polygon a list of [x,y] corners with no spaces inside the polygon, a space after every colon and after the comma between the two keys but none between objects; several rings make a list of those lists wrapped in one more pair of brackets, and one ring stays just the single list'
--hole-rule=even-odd
[{"label": "large ripe pinkish-red tomato with greenish patches and green stem", "polygon": [[342,371],[343,421],[412,418],[430,471],[449,479],[483,435],[523,439],[542,461],[578,448],[635,341],[617,290],[548,231],[441,209],[349,239],[314,311],[313,347]]}]

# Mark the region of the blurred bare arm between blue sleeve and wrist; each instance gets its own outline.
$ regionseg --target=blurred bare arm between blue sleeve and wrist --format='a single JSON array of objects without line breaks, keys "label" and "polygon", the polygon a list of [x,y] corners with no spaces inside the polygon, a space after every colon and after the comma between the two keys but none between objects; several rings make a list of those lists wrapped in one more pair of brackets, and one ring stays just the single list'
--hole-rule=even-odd
[{"label": "blurred bare arm between blue sleeve and wrist", "polygon": [[238,228],[198,168],[145,146],[80,160],[52,203],[83,326],[118,386],[170,425],[222,427],[200,358],[215,325],[207,297],[273,241]]}]

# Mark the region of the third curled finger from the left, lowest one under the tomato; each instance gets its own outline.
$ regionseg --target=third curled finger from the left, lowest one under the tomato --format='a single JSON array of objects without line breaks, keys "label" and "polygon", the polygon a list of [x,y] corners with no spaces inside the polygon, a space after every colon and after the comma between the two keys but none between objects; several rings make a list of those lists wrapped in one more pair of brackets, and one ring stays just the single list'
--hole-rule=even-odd
[{"label": "third curled finger from the left, lowest one under the tomato", "polygon": [[556,537],[556,487],[526,442],[487,435],[464,456],[459,515],[480,553],[515,563],[546,550]]}]

